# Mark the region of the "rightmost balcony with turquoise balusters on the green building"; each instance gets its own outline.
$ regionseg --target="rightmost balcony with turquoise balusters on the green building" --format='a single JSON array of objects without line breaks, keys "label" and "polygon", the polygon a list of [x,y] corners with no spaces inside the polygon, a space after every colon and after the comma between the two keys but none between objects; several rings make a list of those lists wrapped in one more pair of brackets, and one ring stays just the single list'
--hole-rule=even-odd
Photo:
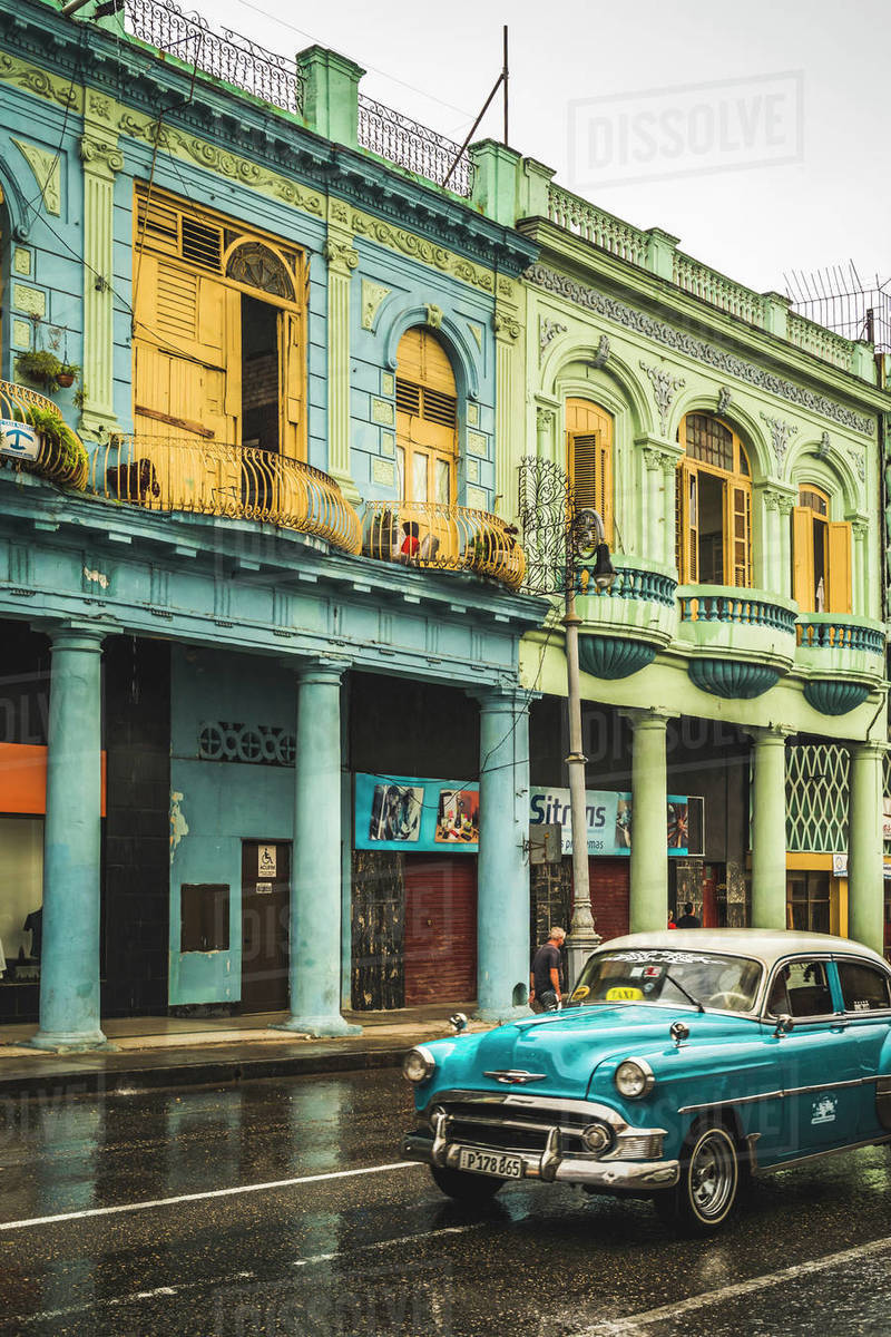
[{"label": "rightmost balcony with turquoise balusters on the green building", "polygon": [[807,674],[804,697],[823,715],[862,706],[884,678],[880,622],[836,612],[803,612],[795,626],[795,664]]}]

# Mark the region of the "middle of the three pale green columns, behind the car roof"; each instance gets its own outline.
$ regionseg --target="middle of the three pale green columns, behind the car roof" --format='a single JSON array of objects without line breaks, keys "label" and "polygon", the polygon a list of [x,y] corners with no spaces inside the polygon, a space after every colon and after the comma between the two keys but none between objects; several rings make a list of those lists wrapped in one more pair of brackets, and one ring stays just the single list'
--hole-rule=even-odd
[{"label": "middle of the three pale green columns, behind the car roof", "polygon": [[785,928],[785,738],[779,727],[752,738],[752,928]]}]

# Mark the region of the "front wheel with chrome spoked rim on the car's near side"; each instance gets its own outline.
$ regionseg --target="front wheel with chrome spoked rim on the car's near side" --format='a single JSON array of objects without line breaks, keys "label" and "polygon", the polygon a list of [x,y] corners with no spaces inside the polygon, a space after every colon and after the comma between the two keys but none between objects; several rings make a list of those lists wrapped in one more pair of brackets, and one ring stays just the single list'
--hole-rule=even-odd
[{"label": "front wheel with chrome spoked rim on the car's near side", "polygon": [[740,1186],[736,1143],[720,1124],[695,1127],[680,1155],[680,1182],[655,1199],[659,1217],[692,1234],[709,1234],[729,1217]]}]

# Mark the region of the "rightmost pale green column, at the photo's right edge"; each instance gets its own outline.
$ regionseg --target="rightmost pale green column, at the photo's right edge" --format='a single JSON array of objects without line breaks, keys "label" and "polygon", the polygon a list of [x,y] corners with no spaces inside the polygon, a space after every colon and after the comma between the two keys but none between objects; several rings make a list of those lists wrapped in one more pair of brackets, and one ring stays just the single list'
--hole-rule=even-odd
[{"label": "rightmost pale green column, at the photo's right edge", "polygon": [[848,810],[848,936],[883,952],[882,796],[884,743],[851,747]]}]

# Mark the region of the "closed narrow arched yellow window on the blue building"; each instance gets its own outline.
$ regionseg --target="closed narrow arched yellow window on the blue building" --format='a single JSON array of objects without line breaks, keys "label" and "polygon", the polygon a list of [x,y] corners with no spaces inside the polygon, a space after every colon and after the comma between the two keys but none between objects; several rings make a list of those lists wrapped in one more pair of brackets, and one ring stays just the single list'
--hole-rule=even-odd
[{"label": "closed narrow arched yellow window on the blue building", "polygon": [[403,501],[454,501],[458,400],[442,344],[425,329],[399,340],[395,365],[395,453]]}]

